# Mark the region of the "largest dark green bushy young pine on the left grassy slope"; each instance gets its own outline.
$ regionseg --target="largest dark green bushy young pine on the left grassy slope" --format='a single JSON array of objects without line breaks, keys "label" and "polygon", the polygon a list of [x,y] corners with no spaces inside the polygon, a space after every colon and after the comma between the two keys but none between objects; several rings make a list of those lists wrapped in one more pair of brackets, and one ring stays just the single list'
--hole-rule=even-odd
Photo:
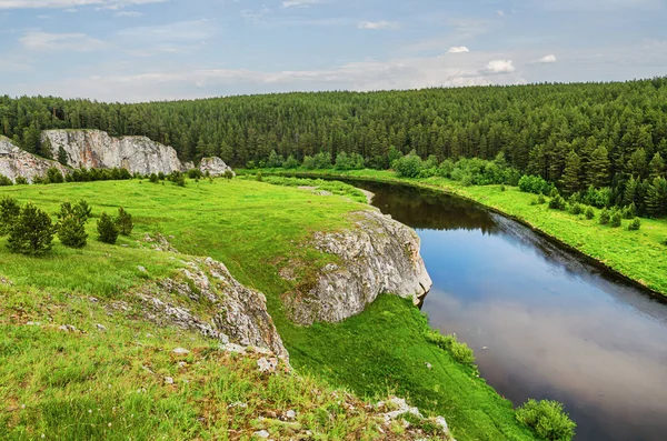
[{"label": "largest dark green bushy young pine on the left grassy slope", "polygon": [[9,230],[7,247],[21,254],[41,254],[51,250],[54,232],[51,217],[28,202]]}]

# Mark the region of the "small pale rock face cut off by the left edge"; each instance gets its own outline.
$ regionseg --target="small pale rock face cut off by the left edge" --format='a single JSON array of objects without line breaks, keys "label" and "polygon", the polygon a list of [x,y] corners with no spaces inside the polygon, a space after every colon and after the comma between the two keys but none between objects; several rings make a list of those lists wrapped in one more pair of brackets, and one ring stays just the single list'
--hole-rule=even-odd
[{"label": "small pale rock face cut off by the left edge", "polygon": [[68,173],[60,163],[28,153],[8,138],[0,137],[0,174],[12,181],[16,181],[17,177],[23,177],[28,182],[32,182],[36,177],[47,174],[51,167],[57,167],[63,174]]}]

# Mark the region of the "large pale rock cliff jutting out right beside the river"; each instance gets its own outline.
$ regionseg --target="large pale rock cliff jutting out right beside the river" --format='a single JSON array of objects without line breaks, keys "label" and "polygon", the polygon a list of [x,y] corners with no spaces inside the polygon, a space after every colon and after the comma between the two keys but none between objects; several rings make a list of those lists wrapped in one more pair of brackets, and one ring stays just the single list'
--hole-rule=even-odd
[{"label": "large pale rock cliff jutting out right beside the river", "polygon": [[354,213],[356,228],[316,233],[315,247],[338,258],[326,265],[315,287],[286,295],[290,318],[300,324],[339,322],[364,311],[381,293],[417,304],[432,281],[419,254],[417,233],[377,210]]}]

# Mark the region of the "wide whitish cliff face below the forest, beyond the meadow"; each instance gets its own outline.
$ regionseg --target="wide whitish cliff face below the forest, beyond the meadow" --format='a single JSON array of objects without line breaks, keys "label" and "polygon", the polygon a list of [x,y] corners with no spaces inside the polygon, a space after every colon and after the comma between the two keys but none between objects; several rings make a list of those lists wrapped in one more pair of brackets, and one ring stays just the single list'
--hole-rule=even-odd
[{"label": "wide whitish cliff face below the forest, beyond the meadow", "polygon": [[53,158],[62,148],[67,164],[74,168],[125,168],[131,173],[171,173],[183,167],[176,150],[146,137],[112,138],[100,130],[44,130]]}]

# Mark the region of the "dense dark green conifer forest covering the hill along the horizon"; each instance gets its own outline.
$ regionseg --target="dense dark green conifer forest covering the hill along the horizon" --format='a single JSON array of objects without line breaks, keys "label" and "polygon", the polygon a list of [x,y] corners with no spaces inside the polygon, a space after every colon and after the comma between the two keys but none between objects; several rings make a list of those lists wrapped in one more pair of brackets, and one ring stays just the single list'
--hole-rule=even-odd
[{"label": "dense dark green conifer forest covering the hill along the horizon", "polygon": [[101,129],[170,144],[182,160],[216,154],[235,166],[272,150],[297,160],[358,152],[374,168],[389,166],[391,146],[438,160],[502,151],[520,171],[554,182],[569,156],[583,184],[605,187],[628,174],[648,178],[655,153],[667,158],[666,111],[667,78],[138,104],[0,97],[0,134],[40,153],[40,130]]}]

